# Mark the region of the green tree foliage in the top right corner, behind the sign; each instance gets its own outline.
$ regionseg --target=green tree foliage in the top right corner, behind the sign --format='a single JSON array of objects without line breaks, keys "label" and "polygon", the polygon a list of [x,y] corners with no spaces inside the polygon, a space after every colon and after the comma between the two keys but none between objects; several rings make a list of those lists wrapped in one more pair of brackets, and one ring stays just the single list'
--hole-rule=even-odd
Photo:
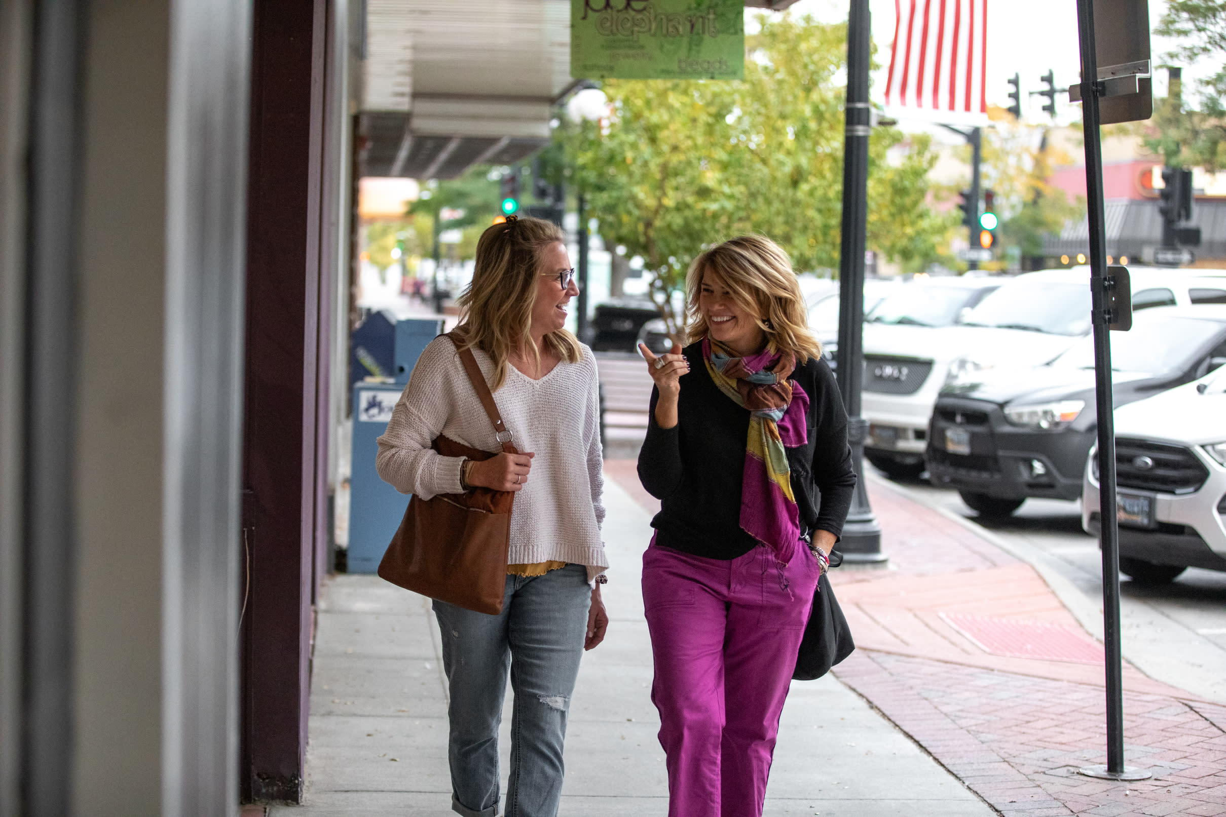
[{"label": "green tree foliage in the top right corner, behind the sign", "polygon": [[1214,73],[1198,83],[1190,104],[1173,81],[1165,99],[1154,100],[1154,118],[1139,126],[1145,147],[1168,167],[1226,167],[1226,2],[1170,0],[1154,33],[1179,45],[1166,55],[1172,65],[1209,62]]}]

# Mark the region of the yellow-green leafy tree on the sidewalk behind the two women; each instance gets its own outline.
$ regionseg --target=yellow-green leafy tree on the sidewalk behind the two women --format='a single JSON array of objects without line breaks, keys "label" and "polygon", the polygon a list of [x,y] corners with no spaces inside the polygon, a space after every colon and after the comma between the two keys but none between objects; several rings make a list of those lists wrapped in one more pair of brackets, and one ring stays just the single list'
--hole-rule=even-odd
[{"label": "yellow-green leafy tree on the sidewalk behind the two women", "polygon": [[[609,80],[606,119],[559,129],[606,244],[642,257],[673,332],[684,316],[672,295],[721,239],[763,233],[798,269],[839,266],[846,26],[759,20],[744,80]],[[956,217],[931,206],[935,159],[926,136],[874,129],[869,249],[921,266],[937,256]]]}]

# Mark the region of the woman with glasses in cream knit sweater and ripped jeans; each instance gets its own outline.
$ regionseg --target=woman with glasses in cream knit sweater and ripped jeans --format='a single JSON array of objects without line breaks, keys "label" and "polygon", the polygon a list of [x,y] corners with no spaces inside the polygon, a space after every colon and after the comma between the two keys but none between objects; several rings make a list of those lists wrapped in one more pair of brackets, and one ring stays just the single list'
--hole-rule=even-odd
[{"label": "woman with glasses in cream knit sweater and ripped jeans", "polygon": [[[403,494],[430,499],[473,486],[517,492],[501,614],[434,601],[451,692],[451,807],[467,817],[498,813],[508,670],[515,704],[505,813],[558,813],[579,660],[608,626],[600,590],[607,561],[596,359],[564,328],[577,294],[554,224],[511,216],[487,229],[460,298],[462,322],[422,353],[379,437],[379,475]],[[432,450],[440,434],[500,450],[457,345],[472,349],[524,453],[474,462]]]}]

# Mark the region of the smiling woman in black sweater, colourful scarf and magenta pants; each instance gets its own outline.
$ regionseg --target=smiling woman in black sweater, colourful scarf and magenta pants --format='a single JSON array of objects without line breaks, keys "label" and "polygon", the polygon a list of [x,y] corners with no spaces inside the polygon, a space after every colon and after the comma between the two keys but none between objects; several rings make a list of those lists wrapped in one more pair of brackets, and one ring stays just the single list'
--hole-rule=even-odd
[{"label": "smiling woman in black sweater, colourful scarf and magenta pants", "polygon": [[[791,261],[725,241],[687,280],[689,345],[653,355],[639,478],[669,817],[756,817],[813,593],[856,473]],[[818,496],[820,494],[820,501]]]}]

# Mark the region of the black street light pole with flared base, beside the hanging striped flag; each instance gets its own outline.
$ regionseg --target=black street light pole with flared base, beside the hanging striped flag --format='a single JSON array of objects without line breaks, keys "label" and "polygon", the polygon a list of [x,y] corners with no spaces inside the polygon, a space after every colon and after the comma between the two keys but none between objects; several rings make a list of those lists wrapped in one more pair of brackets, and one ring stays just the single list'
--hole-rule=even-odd
[{"label": "black street light pole with flared base, beside the hanging striped flag", "polygon": [[847,409],[847,441],[856,467],[856,495],[839,549],[846,562],[884,562],[881,525],[864,488],[864,436],[859,415],[864,378],[864,224],[868,218],[868,0],[851,0],[847,16],[847,105],[843,147],[842,246],[839,258],[839,367],[836,376]]}]

